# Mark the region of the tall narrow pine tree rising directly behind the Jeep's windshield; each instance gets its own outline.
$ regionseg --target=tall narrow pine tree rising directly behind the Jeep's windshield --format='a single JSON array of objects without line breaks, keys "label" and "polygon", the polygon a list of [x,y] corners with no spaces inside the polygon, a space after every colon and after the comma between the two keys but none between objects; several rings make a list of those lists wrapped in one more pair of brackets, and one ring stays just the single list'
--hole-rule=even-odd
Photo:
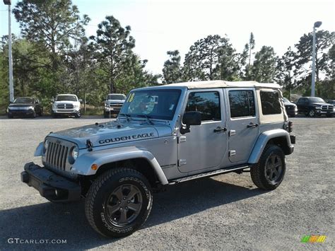
[{"label": "tall narrow pine tree rising directly behind the Jeep's windshield", "polygon": [[116,18],[107,16],[98,25],[97,35],[90,37],[103,80],[108,83],[111,92],[117,92],[115,83],[127,74],[126,70],[133,59],[135,40],[130,30],[130,26],[122,28]]}]

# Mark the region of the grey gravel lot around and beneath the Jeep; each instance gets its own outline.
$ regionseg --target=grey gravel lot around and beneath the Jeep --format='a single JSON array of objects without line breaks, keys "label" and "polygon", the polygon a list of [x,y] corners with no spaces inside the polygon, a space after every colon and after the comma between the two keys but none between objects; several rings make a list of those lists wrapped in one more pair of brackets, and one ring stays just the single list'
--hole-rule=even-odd
[{"label": "grey gravel lot around and beneath the Jeep", "polygon": [[[278,189],[257,189],[249,173],[170,186],[154,194],[151,216],[141,230],[114,240],[90,228],[83,202],[52,204],[20,182],[25,163],[41,163],[33,153],[47,133],[104,121],[0,119],[0,250],[334,250],[335,118],[293,119],[297,144]],[[327,235],[327,240],[300,243],[303,235]],[[8,238],[66,244],[11,244]]]}]

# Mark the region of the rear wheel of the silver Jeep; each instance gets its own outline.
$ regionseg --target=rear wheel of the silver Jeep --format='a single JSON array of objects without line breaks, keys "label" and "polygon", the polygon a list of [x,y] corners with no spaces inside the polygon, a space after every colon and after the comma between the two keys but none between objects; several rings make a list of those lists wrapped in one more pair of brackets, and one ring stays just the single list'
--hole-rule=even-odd
[{"label": "rear wheel of the silver Jeep", "polygon": [[279,146],[266,146],[257,165],[250,168],[254,185],[261,189],[276,189],[286,171],[285,154]]}]

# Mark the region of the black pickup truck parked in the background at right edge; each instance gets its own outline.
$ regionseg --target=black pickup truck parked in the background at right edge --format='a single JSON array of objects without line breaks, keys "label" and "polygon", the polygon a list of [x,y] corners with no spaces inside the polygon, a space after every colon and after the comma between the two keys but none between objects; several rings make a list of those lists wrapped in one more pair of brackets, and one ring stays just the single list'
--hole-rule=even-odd
[{"label": "black pickup truck parked in the background at right edge", "polygon": [[299,98],[297,102],[298,113],[309,116],[321,116],[326,115],[327,117],[332,117],[335,113],[334,105],[330,105],[322,98],[318,97],[302,97]]}]

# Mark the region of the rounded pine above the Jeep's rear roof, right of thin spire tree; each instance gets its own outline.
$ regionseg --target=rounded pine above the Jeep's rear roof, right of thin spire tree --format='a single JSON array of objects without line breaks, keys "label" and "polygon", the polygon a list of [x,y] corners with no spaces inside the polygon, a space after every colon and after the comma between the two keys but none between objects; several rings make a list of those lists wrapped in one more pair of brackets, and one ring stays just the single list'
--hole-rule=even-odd
[{"label": "rounded pine above the Jeep's rear roof, right of thin spire tree", "polygon": [[261,47],[256,53],[252,67],[252,78],[261,83],[273,82],[276,76],[276,54],[270,46]]}]

